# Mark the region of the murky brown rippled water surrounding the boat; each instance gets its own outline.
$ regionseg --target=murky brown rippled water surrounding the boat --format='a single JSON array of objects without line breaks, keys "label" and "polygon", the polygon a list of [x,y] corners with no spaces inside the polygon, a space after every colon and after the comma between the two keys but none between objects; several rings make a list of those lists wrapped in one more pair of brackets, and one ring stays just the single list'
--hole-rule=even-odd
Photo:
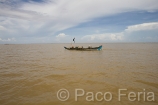
[{"label": "murky brown rippled water surrounding the boat", "polygon": [[[158,43],[102,45],[102,51],[65,50],[69,44],[0,45],[0,105],[157,105]],[[65,92],[57,97],[62,88],[69,91],[66,101],[58,99]],[[126,96],[119,101],[120,89]]]}]

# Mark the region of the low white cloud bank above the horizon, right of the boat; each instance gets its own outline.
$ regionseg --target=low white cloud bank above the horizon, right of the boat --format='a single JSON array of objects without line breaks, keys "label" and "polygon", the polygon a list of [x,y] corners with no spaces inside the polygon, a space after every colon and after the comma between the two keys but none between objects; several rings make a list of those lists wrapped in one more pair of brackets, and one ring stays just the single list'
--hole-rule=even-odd
[{"label": "low white cloud bank above the horizon, right of the boat", "polygon": [[[128,26],[122,32],[119,33],[104,33],[104,34],[92,34],[85,35],[81,39],[88,41],[143,41],[146,40],[158,41],[158,22],[143,23],[137,25]],[[132,40],[130,40],[132,39]]]}]

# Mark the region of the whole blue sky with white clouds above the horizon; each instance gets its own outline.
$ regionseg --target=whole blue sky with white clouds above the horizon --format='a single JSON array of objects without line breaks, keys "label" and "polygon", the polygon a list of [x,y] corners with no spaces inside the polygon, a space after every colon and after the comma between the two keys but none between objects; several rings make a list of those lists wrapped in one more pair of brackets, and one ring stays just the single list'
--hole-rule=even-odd
[{"label": "whole blue sky with white clouds above the horizon", "polygon": [[0,0],[0,43],[158,42],[158,0]]}]

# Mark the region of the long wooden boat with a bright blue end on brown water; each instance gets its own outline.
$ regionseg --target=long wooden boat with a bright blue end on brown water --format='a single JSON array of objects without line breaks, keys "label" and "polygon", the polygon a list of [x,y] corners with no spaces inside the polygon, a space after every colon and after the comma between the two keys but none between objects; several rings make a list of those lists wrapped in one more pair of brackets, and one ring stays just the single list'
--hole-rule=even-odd
[{"label": "long wooden boat with a bright blue end on brown water", "polygon": [[80,50],[80,51],[93,51],[93,50],[101,50],[102,49],[102,45],[99,47],[88,47],[88,48],[83,48],[83,47],[64,47],[67,50]]}]

